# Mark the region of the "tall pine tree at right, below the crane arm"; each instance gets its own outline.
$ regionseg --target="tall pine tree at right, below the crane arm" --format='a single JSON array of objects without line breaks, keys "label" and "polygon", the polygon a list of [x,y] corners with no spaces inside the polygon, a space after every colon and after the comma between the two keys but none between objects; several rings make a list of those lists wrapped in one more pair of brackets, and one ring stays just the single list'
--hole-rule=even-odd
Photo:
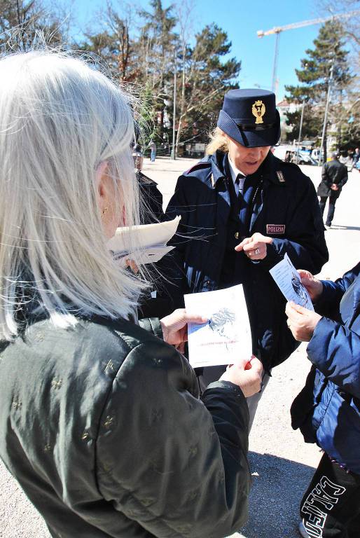
[{"label": "tall pine tree at right, below the crane arm", "polygon": [[[328,84],[333,68],[331,88],[331,110],[328,123],[332,123],[345,90],[352,80],[349,71],[347,55],[343,39],[342,25],[338,21],[328,21],[319,30],[314,39],[314,48],[305,51],[307,57],[301,60],[302,69],[296,69],[300,85],[286,86],[286,99],[291,102],[305,102],[303,137],[312,138],[321,135],[324,121],[324,106],[328,93]],[[290,137],[298,135],[300,111],[288,115],[288,125],[293,125]],[[324,158],[326,159],[326,132],[324,137]]]}]

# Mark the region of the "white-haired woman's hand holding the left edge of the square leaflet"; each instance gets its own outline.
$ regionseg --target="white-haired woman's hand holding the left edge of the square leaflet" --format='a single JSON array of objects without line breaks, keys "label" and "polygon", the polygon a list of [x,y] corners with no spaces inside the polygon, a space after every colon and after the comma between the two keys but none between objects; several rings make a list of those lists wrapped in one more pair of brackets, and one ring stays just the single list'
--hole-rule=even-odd
[{"label": "white-haired woman's hand holding the left edge of the square leaflet", "polygon": [[207,317],[186,314],[185,308],[178,308],[172,314],[160,319],[162,337],[184,353],[184,343],[188,340],[188,323],[206,323]]}]

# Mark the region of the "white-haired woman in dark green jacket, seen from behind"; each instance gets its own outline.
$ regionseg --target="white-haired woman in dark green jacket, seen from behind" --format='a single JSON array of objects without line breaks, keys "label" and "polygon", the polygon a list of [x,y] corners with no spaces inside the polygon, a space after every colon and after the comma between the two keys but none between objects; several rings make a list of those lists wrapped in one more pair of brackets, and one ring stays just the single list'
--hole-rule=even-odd
[{"label": "white-haired woman in dark green jacket, seen from behind", "polygon": [[132,321],[143,282],[106,249],[138,222],[127,97],[57,53],[4,57],[0,79],[2,460],[56,538],[234,532],[261,366],[199,399],[172,346],[186,313]]}]

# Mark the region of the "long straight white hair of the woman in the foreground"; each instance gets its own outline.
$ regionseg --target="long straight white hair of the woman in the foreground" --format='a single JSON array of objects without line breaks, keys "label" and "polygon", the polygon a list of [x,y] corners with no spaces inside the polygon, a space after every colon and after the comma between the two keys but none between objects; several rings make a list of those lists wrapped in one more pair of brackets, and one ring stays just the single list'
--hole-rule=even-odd
[{"label": "long straight white hair of the woman in the foreground", "polygon": [[0,340],[18,333],[30,299],[56,326],[76,312],[127,317],[144,283],[106,249],[95,174],[108,161],[122,224],[138,223],[129,98],[47,51],[4,57],[0,80]]}]

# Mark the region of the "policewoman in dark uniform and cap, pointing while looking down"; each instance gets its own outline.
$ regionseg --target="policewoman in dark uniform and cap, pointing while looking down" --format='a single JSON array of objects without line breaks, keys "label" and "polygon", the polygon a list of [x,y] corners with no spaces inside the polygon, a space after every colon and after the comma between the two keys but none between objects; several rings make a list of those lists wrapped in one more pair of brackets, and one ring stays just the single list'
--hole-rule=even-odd
[{"label": "policewoman in dark uniform and cap, pointing while looking down", "polygon": [[[312,274],[328,261],[314,186],[297,165],[272,154],[279,137],[274,93],[230,90],[207,157],[179,177],[166,210],[167,219],[181,214],[167,274],[174,306],[186,293],[243,284],[263,387],[296,348],[269,269],[284,254]],[[200,385],[219,378],[221,368],[204,368]],[[248,401],[250,425],[260,397]]]}]

